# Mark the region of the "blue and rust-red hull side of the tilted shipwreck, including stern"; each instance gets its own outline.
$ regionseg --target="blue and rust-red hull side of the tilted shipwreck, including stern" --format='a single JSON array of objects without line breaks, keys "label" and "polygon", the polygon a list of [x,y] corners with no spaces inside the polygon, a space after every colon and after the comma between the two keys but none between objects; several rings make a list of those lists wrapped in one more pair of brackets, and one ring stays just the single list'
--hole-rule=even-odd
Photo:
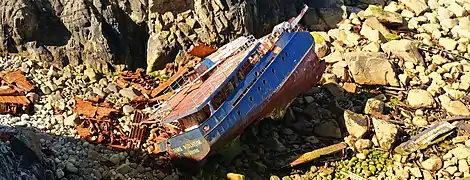
[{"label": "blue and rust-red hull side of the tilted shipwreck, including stern", "polygon": [[253,122],[317,85],[325,64],[315,55],[310,33],[284,33],[276,46],[281,51],[268,51],[207,120],[196,129],[161,142],[160,150],[173,158],[202,160]]}]

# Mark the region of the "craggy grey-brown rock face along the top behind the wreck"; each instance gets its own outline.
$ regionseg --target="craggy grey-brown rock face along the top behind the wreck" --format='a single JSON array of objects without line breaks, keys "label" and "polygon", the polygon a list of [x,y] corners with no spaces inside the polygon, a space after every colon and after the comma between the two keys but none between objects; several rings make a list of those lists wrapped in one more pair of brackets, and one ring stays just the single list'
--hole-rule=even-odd
[{"label": "craggy grey-brown rock face along the top behind the wreck", "polygon": [[315,7],[302,21],[312,29],[334,27],[344,14],[341,0],[5,0],[0,51],[58,67],[86,64],[98,73],[152,71],[201,42],[218,46],[240,35],[263,36],[303,4]]}]

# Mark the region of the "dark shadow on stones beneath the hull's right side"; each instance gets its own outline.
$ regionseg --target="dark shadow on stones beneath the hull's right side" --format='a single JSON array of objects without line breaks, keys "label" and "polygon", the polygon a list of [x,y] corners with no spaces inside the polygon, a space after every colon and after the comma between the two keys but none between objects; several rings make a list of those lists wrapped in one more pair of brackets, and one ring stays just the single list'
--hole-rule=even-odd
[{"label": "dark shadow on stones beneath the hull's right side", "polygon": [[[247,179],[266,179],[271,175],[289,175],[292,171],[305,172],[312,165],[347,158],[349,153],[343,152],[298,167],[285,168],[299,155],[342,142],[348,136],[344,111],[364,114],[367,100],[381,94],[373,86],[358,86],[357,89],[364,91],[350,93],[336,83],[314,87],[297,97],[281,120],[266,118],[250,125],[241,135],[241,143],[231,147],[239,149],[233,150],[238,154],[226,155],[234,156],[229,163],[222,163],[223,154],[219,155],[222,158],[209,158],[203,177],[238,173]],[[372,93],[369,92],[371,89]]]}]

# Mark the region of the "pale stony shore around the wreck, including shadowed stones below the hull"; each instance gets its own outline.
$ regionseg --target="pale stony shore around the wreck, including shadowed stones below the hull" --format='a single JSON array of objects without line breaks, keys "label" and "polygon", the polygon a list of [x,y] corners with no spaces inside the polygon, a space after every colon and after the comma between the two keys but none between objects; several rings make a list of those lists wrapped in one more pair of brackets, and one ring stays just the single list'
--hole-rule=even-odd
[{"label": "pale stony shore around the wreck, including shadowed stones below the hull", "polygon": [[[138,95],[115,76],[85,66],[50,67],[9,55],[38,87],[34,113],[1,115],[0,126],[28,127],[57,179],[458,179],[470,178],[468,120],[449,121],[444,139],[407,155],[397,146],[455,116],[470,116],[470,2],[400,0],[348,14],[338,28],[312,32],[328,64],[322,86],[299,96],[281,119],[251,125],[233,146],[188,175],[167,160],[80,140],[74,97],[105,96],[126,115]],[[60,112],[60,113],[57,113]],[[460,123],[460,124],[457,124]],[[462,125],[463,124],[463,125]],[[3,127],[0,127],[3,128]],[[348,150],[284,168],[292,157],[346,142]],[[0,141],[0,147],[8,148]],[[2,148],[0,148],[2,149]],[[152,163],[149,163],[152,162]]]}]

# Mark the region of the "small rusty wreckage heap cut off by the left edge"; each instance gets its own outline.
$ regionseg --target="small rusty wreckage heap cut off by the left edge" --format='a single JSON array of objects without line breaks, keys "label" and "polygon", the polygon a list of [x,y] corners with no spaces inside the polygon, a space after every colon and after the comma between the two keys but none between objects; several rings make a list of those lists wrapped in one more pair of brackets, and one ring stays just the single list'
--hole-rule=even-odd
[{"label": "small rusty wreckage heap cut off by the left edge", "polygon": [[35,87],[27,80],[21,71],[0,72],[0,113],[20,114],[30,113],[34,97],[28,93]]}]

